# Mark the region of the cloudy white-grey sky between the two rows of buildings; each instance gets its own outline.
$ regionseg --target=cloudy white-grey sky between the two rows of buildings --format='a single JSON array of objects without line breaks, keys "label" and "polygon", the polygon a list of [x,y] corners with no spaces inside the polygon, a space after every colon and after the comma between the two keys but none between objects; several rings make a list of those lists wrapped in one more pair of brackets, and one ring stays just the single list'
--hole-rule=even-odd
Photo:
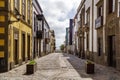
[{"label": "cloudy white-grey sky between the two rows of buildings", "polygon": [[65,41],[69,19],[74,18],[81,0],[38,0],[51,29],[55,30],[56,47]]}]

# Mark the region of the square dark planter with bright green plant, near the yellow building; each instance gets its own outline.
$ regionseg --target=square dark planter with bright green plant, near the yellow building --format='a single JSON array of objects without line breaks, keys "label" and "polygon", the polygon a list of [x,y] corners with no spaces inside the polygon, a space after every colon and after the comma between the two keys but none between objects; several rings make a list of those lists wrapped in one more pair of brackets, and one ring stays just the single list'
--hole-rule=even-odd
[{"label": "square dark planter with bright green plant, near the yellow building", "polygon": [[34,74],[37,70],[37,63],[32,60],[26,65],[26,74]]}]

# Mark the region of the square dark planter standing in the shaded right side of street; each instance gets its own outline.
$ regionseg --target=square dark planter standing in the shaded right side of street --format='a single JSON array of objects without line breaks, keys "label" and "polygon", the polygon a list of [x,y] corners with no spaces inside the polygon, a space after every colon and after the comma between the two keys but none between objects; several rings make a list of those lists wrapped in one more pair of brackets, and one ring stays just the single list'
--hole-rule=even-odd
[{"label": "square dark planter standing in the shaded right side of street", "polygon": [[94,74],[94,63],[92,61],[86,61],[85,70],[87,74]]}]

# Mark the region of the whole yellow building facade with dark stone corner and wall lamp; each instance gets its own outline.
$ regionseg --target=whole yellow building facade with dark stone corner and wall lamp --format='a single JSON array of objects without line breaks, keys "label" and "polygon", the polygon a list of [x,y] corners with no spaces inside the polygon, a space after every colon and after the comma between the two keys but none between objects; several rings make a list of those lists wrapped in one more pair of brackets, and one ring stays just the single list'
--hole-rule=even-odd
[{"label": "whole yellow building facade with dark stone corner and wall lamp", "polygon": [[32,58],[32,0],[0,0],[0,72]]}]

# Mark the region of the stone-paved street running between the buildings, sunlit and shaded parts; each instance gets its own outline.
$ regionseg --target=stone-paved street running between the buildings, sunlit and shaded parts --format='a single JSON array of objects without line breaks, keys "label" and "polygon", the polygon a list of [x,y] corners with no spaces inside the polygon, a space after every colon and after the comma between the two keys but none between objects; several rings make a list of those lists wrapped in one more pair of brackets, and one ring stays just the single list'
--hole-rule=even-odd
[{"label": "stone-paved street running between the buildings, sunlit and shaded parts", "polygon": [[85,73],[85,60],[73,55],[53,53],[36,59],[37,72],[25,75],[26,64],[9,72],[0,73],[0,80],[120,80],[120,72],[95,65],[95,74]]}]

